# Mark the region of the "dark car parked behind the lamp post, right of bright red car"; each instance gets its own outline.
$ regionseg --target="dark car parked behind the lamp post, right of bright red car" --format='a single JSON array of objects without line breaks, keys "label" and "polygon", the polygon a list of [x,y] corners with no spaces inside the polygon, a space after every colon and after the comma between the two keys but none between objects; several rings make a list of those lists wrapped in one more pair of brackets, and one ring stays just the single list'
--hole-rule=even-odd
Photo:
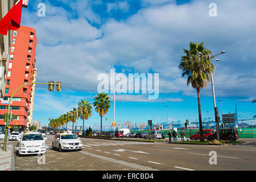
[{"label": "dark car parked behind the lamp post, right of bright red car", "polygon": [[[209,135],[207,140],[211,141],[217,139],[217,133],[215,132],[213,135]],[[239,139],[238,130],[237,129],[221,129],[219,130],[219,139],[221,140],[230,140],[235,141]]]}]

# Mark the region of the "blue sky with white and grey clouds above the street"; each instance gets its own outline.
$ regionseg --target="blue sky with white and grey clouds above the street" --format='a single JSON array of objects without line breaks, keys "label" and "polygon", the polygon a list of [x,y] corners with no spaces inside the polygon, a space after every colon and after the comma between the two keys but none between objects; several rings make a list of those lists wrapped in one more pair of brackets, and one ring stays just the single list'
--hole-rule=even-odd
[{"label": "blue sky with white and grey clouds above the street", "polygon": [[[45,3],[46,16],[37,16],[38,3]],[[159,73],[159,98],[146,94],[118,94],[116,120],[153,123],[184,122],[198,118],[197,92],[186,85],[178,64],[190,42],[205,42],[213,54],[223,50],[215,62],[215,84],[256,80],[256,2],[215,1],[217,17],[209,16],[211,1],[128,0],[128,1],[30,1],[23,9],[22,25],[36,29],[38,82],[62,81],[63,92],[47,92],[37,86],[34,119],[57,118],[72,110],[81,99],[93,102],[100,73]],[[246,117],[256,114],[256,82],[215,85],[217,106],[223,112]],[[110,94],[111,101],[113,95]],[[113,102],[105,115],[113,119]],[[211,86],[201,93],[202,117],[214,117]],[[219,108],[220,109],[220,108]],[[209,111],[209,113],[207,113]],[[86,127],[99,127],[93,113]],[[104,120],[105,121],[105,120]],[[78,125],[82,122],[79,121]],[[71,126],[71,124],[70,124]]]}]

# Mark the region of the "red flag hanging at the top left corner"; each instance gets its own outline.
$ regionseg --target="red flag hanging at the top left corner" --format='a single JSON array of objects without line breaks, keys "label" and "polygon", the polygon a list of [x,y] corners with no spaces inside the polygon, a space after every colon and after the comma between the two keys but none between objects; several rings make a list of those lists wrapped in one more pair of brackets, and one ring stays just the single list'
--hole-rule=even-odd
[{"label": "red flag hanging at the top left corner", "polygon": [[11,10],[0,20],[0,34],[7,35],[8,30],[21,27],[22,0],[18,1]]}]

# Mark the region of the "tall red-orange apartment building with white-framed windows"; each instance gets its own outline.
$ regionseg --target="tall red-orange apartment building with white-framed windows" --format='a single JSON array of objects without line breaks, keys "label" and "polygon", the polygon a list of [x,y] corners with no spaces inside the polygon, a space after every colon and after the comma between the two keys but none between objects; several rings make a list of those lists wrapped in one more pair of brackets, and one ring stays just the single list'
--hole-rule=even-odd
[{"label": "tall red-orange apartment building with white-framed windows", "polygon": [[[4,129],[3,121],[9,104],[11,94],[27,83],[34,80],[35,69],[35,49],[37,47],[37,37],[34,28],[21,26],[17,31],[13,31],[10,46],[10,60],[6,73],[5,95],[0,101],[0,131]],[[25,130],[27,127],[27,117],[30,113],[32,85],[25,86],[14,94],[11,102],[10,112],[14,115],[11,121],[11,131]]]}]

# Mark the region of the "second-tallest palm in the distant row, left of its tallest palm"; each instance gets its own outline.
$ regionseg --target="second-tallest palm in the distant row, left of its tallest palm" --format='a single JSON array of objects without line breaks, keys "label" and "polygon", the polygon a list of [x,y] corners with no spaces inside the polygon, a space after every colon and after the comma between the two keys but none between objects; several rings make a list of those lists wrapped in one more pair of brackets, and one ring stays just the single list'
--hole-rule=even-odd
[{"label": "second-tallest palm in the distant row, left of its tallest palm", "polygon": [[78,102],[78,116],[83,119],[83,134],[84,134],[84,127],[85,127],[85,120],[91,117],[91,104],[89,101],[81,100]]}]

